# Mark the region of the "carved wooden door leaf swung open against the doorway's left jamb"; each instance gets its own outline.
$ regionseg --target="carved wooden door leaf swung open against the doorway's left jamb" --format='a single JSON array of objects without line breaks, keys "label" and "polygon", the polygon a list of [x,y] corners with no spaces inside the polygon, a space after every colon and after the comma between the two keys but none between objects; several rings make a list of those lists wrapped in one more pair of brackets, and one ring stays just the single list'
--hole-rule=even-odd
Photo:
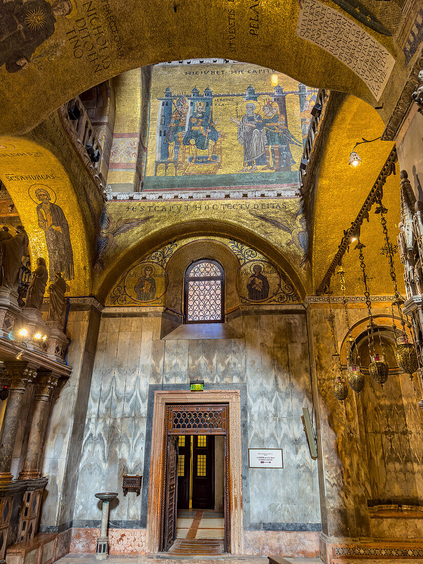
[{"label": "carved wooden door leaf swung open against the doorway's left jamb", "polygon": [[169,550],[176,536],[178,499],[178,437],[168,437],[166,464],[166,505],[164,550]]}]

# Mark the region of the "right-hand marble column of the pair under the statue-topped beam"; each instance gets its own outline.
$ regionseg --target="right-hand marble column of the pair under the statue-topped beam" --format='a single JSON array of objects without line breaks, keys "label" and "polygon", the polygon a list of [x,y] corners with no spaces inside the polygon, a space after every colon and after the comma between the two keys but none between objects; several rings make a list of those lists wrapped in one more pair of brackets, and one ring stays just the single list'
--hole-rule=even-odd
[{"label": "right-hand marble column of the pair under the statue-topped beam", "polygon": [[46,435],[51,393],[57,383],[58,378],[51,372],[38,371],[37,380],[34,382],[34,411],[29,430],[27,455],[24,468],[19,473],[20,480],[39,478],[39,461]]}]

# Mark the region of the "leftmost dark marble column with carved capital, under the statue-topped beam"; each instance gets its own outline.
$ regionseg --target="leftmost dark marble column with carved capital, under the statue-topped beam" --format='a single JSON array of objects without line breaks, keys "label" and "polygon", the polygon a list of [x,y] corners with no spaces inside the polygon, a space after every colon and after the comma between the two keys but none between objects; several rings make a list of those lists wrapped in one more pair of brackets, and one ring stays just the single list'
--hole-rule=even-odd
[{"label": "leftmost dark marble column with carved capital, under the statue-topped beam", "polygon": [[10,472],[13,450],[19,422],[22,400],[28,384],[34,380],[37,372],[28,368],[27,364],[16,362],[6,363],[6,378],[9,385],[5,417],[3,418],[3,433],[0,442],[0,484],[13,481]]}]

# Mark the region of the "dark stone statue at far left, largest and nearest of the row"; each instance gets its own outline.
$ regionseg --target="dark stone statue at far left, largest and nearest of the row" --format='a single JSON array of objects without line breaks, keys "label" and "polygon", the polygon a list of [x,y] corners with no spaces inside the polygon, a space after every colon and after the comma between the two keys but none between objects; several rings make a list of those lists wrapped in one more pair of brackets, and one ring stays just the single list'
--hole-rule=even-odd
[{"label": "dark stone statue at far left, largest and nearest of the row", "polygon": [[21,259],[28,252],[28,236],[22,226],[12,237],[3,227],[0,232],[0,286],[17,292]]}]

